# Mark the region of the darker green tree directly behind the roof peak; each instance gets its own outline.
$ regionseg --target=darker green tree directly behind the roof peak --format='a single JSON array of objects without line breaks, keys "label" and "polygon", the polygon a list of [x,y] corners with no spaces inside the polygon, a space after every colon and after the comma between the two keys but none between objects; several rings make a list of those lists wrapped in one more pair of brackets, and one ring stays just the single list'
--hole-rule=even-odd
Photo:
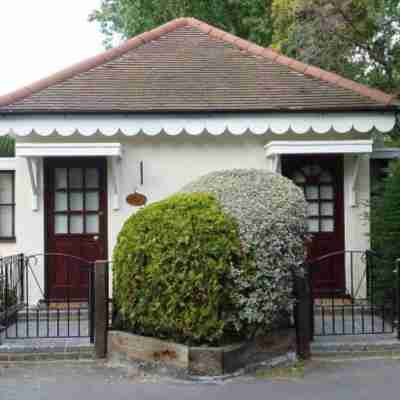
[{"label": "darker green tree directly behind the roof peak", "polygon": [[135,36],[179,17],[195,17],[268,46],[272,0],[103,0],[89,20],[100,23],[109,46],[115,35]]}]

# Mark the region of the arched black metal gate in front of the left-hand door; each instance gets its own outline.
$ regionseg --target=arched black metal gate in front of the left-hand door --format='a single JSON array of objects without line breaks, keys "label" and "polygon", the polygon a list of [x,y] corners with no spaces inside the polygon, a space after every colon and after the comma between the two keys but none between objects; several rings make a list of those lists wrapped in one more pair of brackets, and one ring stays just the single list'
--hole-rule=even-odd
[{"label": "arched black metal gate in front of the left-hand door", "polygon": [[[15,257],[19,307],[5,311],[5,338],[89,338],[93,343],[94,263],[61,253]],[[5,297],[12,296],[7,285]]]}]

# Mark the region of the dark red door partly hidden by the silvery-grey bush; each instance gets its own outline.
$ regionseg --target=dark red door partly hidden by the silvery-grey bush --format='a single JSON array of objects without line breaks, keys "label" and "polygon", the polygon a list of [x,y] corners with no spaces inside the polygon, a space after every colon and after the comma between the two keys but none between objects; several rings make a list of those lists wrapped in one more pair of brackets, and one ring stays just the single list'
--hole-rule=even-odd
[{"label": "dark red door partly hidden by the silvery-grey bush", "polygon": [[314,293],[344,293],[343,157],[287,156],[282,172],[303,188],[307,200],[308,259],[338,253],[312,265]]}]

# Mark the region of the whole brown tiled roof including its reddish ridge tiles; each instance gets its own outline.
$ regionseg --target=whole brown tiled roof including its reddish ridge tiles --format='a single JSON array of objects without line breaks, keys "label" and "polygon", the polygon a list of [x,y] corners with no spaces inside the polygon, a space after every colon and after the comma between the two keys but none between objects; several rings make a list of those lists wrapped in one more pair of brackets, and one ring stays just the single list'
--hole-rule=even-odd
[{"label": "whole brown tiled roof including its reddish ridge tiles", "polygon": [[193,18],[145,32],[10,94],[0,112],[387,109],[395,97]]}]

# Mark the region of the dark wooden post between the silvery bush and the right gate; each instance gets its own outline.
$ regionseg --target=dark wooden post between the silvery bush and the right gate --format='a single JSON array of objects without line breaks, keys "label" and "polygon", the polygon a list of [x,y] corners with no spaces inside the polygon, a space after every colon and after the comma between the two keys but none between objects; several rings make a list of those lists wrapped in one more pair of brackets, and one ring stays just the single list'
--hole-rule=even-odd
[{"label": "dark wooden post between the silvery bush and the right gate", "polygon": [[307,276],[295,274],[294,287],[297,355],[303,360],[308,360],[311,358],[310,341],[313,335],[311,319],[313,315],[311,313],[312,298]]}]

